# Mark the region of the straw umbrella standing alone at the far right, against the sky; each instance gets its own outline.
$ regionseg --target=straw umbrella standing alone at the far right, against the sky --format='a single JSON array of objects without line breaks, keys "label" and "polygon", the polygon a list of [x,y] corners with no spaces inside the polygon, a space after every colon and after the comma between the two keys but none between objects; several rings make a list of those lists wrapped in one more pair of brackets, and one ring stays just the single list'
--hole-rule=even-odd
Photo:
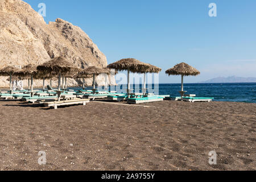
[{"label": "straw umbrella standing alone at the far right, against the sky", "polygon": [[183,90],[183,80],[184,76],[197,76],[200,75],[200,72],[188,65],[187,63],[176,64],[173,68],[170,68],[166,71],[166,74],[170,75],[181,75],[181,97],[184,95]]}]

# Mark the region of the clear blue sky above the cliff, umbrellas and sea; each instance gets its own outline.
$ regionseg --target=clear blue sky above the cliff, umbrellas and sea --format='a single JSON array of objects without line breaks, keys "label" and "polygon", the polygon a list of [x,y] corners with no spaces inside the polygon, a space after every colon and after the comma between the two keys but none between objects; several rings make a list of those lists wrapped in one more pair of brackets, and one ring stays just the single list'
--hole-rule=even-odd
[{"label": "clear blue sky above the cliff, umbrellas and sea", "polygon": [[[256,77],[256,1],[232,0],[25,0],[46,4],[46,22],[61,18],[79,26],[108,63],[134,57],[163,69],[185,61],[201,71],[185,82],[218,76]],[[208,15],[216,3],[217,17]]]}]

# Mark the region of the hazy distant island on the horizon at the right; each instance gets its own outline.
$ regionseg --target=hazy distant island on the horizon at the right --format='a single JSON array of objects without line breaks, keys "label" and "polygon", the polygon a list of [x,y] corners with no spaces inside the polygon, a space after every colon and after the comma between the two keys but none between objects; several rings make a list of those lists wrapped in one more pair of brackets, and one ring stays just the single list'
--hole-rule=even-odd
[{"label": "hazy distant island on the horizon at the right", "polygon": [[244,83],[244,82],[256,82],[256,77],[217,77],[207,81],[201,81],[200,83]]}]

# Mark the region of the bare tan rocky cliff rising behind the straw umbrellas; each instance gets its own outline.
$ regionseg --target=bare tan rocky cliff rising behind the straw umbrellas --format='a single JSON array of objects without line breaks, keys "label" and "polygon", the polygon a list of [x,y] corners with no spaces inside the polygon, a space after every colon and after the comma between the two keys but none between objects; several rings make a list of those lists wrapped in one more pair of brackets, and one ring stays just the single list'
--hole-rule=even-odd
[{"label": "bare tan rocky cliff rising behind the straw umbrellas", "polygon": [[[81,68],[107,65],[106,56],[81,28],[60,18],[47,24],[27,3],[0,0],[0,69],[7,65],[42,64],[56,56],[67,56]],[[68,79],[69,86],[79,82]],[[98,76],[96,83],[104,85],[105,77]],[[92,84],[92,78],[86,79],[86,84]],[[35,85],[41,86],[42,81],[36,80]],[[7,86],[7,78],[0,77],[0,88]]]}]

